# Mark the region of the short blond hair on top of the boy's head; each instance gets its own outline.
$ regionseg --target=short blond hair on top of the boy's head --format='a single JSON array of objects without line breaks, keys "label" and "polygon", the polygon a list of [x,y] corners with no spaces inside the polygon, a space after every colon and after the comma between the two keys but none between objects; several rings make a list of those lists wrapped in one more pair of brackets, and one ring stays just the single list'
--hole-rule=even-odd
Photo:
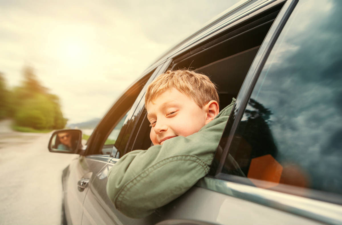
[{"label": "short blond hair on top of the boy's head", "polygon": [[215,84],[203,74],[198,74],[192,70],[168,70],[159,75],[146,90],[145,107],[147,103],[172,88],[192,98],[194,102],[203,107],[211,100],[219,103],[219,95]]}]

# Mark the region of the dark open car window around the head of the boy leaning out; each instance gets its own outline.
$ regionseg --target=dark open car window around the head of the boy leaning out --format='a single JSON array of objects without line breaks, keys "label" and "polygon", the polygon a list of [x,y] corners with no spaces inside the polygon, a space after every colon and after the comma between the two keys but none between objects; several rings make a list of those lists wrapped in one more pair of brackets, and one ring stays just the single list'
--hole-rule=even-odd
[{"label": "dark open car window around the head of the boy leaning out", "polygon": [[[199,43],[172,60],[170,69],[190,68],[210,77],[218,87],[220,110],[236,98],[245,76],[282,5],[277,5],[221,34]],[[132,149],[151,146],[149,122],[143,112]],[[142,144],[143,143],[143,144]]]}]

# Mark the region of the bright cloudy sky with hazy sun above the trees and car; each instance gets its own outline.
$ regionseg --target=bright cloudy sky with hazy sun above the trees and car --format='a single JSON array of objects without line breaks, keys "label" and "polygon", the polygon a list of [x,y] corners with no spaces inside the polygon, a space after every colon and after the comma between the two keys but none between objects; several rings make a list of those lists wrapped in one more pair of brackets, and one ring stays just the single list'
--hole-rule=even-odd
[{"label": "bright cloudy sky with hazy sun above the trees and car", "polygon": [[24,66],[60,97],[68,124],[102,118],[162,53],[239,0],[0,0],[0,72]]}]

